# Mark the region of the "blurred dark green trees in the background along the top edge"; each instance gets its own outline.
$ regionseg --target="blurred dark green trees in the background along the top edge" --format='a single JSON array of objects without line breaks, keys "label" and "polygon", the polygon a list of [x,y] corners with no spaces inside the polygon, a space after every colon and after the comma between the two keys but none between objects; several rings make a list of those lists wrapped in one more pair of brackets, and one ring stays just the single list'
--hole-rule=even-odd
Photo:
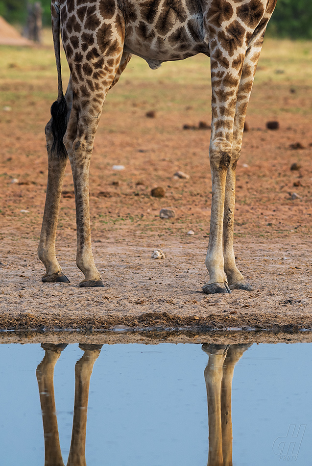
[{"label": "blurred dark green trees in the background along the top edge", "polygon": [[[27,3],[35,0],[0,0],[0,15],[13,23],[24,24]],[[50,0],[41,0],[43,23],[50,24]],[[268,26],[268,35],[291,39],[312,39],[311,0],[278,0]]]}]

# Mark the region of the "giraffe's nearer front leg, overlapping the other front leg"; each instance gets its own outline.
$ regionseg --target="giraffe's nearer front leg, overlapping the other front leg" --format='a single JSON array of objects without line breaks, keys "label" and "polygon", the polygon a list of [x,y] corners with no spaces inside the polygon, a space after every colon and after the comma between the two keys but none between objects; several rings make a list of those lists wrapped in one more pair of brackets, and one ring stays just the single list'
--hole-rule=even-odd
[{"label": "giraffe's nearer front leg, overlapping the other front leg", "polygon": [[[212,132],[209,158],[212,175],[212,205],[206,267],[209,282],[203,292],[231,293],[224,271],[223,216],[226,180],[232,158],[233,126],[240,83],[243,53],[237,53],[238,64],[229,71],[219,58],[220,50],[211,53]],[[233,58],[234,60],[234,58]]]}]

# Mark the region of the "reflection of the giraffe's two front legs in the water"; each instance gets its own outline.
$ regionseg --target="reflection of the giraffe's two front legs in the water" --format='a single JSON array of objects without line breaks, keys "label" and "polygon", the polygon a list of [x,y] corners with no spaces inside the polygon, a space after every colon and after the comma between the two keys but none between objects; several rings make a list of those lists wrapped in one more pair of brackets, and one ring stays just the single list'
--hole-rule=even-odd
[{"label": "reflection of the giraffe's two front legs in the water", "polygon": [[209,426],[208,466],[232,466],[232,379],[235,364],[251,344],[204,344]]}]

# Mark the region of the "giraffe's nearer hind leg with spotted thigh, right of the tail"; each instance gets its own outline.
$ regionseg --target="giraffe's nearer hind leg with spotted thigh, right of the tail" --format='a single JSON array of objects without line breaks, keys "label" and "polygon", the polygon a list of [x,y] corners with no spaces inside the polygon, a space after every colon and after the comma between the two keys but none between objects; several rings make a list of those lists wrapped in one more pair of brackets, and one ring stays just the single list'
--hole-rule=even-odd
[{"label": "giraffe's nearer hind leg with spotted thigh, right of the tail", "polygon": [[[117,3],[116,3],[117,5]],[[89,168],[94,138],[109,88],[118,73],[123,50],[124,19],[116,6],[115,22],[93,36],[93,48],[68,58],[72,74],[73,102],[64,144],[70,158],[75,190],[77,267],[85,275],[80,286],[104,286],[91,246]],[[105,40],[104,40],[105,38]],[[65,45],[65,49],[67,50]],[[71,50],[72,46],[70,45]],[[70,56],[70,53],[68,53]]]}]

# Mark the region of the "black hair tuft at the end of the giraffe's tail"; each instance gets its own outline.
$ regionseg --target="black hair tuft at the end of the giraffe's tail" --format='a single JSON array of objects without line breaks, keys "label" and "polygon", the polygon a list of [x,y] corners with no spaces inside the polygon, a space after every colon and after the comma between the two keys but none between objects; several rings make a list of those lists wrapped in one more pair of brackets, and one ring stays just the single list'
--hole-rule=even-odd
[{"label": "black hair tuft at the end of the giraffe's tail", "polygon": [[67,151],[63,143],[63,137],[67,128],[67,103],[62,95],[60,101],[55,101],[51,106],[52,116],[52,151],[56,149],[60,158],[67,158]]}]

